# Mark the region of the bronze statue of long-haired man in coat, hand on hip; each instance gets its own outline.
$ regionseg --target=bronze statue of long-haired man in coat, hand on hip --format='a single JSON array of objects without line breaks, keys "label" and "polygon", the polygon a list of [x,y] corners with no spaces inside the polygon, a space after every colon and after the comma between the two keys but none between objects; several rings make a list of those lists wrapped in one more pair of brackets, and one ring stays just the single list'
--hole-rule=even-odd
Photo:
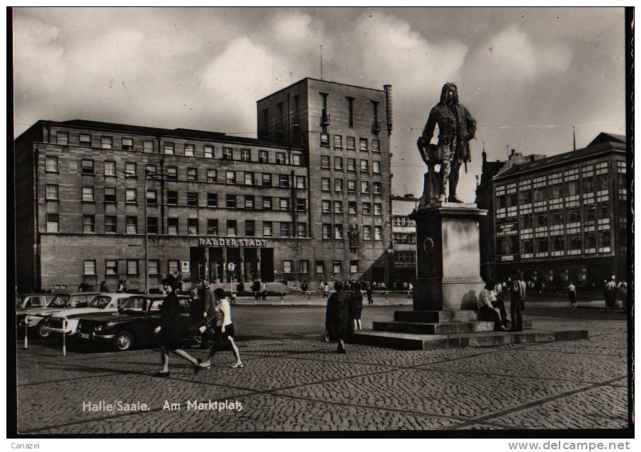
[{"label": "bronze statue of long-haired man in coat, hand on hip", "polygon": [[441,91],[441,101],[429,112],[423,135],[419,139],[419,148],[429,147],[429,142],[438,124],[438,144],[436,156],[441,163],[440,187],[438,201],[446,201],[446,188],[449,183],[449,202],[463,202],[456,195],[458,170],[463,162],[470,161],[468,141],[476,133],[476,121],[463,105],[458,103],[458,88],[454,83],[446,83]]}]

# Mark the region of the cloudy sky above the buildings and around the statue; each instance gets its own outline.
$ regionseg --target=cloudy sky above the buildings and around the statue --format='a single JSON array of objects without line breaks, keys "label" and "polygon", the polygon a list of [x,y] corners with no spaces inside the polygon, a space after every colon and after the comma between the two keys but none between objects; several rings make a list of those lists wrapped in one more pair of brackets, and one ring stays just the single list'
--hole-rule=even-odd
[{"label": "cloudy sky above the buildings and around the statue", "polygon": [[256,100],[306,76],[392,84],[395,192],[421,195],[416,151],[441,86],[483,144],[548,155],[625,133],[623,8],[17,8],[16,136],[86,119],[256,137]]}]

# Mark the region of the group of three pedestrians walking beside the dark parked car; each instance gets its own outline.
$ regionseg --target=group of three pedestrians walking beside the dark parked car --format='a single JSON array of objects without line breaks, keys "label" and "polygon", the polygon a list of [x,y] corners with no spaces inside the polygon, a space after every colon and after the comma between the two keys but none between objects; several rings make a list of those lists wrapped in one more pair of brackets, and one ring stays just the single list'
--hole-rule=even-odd
[{"label": "group of three pedestrians walking beside the dark parked car", "polygon": [[225,291],[220,288],[212,291],[209,282],[203,281],[199,288],[194,288],[191,292],[191,331],[194,335],[200,334],[201,348],[206,348],[207,342],[211,342],[209,353],[203,361],[181,349],[181,309],[176,285],[166,278],[162,281],[162,286],[166,297],[160,306],[159,323],[154,329],[160,344],[161,369],[154,375],[169,376],[169,352],[188,361],[193,366],[194,373],[198,373],[200,369],[209,369],[217,344],[223,337],[234,354],[235,363],[232,368],[242,368],[244,364],[234,342],[234,323]]}]

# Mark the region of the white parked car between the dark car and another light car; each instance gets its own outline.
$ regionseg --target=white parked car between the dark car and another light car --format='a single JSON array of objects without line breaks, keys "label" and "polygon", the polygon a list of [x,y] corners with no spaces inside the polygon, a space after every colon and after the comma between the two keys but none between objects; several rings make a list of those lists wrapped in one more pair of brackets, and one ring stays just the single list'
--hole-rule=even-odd
[{"label": "white parked car between the dark car and another light car", "polygon": [[74,336],[81,317],[98,313],[117,312],[118,308],[135,294],[98,294],[84,308],[64,309],[47,318],[45,331],[55,335]]}]

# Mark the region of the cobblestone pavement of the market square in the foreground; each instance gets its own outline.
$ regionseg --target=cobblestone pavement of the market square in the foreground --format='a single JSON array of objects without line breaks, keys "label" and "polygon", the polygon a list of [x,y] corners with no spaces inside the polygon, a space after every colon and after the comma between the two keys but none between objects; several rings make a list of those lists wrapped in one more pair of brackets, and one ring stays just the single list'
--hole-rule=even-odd
[{"label": "cobblestone pavement of the market square in the foreground", "polygon": [[[240,330],[242,319],[237,320]],[[240,336],[244,369],[229,369],[232,355],[219,352],[211,370],[194,375],[186,361],[171,356],[169,378],[152,376],[159,369],[154,349],[62,357],[54,342],[33,341],[29,349],[18,349],[18,431],[627,427],[623,317],[533,320],[537,328],[587,329],[590,339],[426,351],[351,345],[342,355],[336,354],[334,344],[319,340],[315,330],[287,339]],[[193,354],[204,357],[205,352]],[[101,400],[144,402],[149,410],[83,410],[83,402]],[[194,410],[189,400],[227,400],[229,409]],[[169,409],[165,402],[179,403],[180,410],[177,405]]]}]

